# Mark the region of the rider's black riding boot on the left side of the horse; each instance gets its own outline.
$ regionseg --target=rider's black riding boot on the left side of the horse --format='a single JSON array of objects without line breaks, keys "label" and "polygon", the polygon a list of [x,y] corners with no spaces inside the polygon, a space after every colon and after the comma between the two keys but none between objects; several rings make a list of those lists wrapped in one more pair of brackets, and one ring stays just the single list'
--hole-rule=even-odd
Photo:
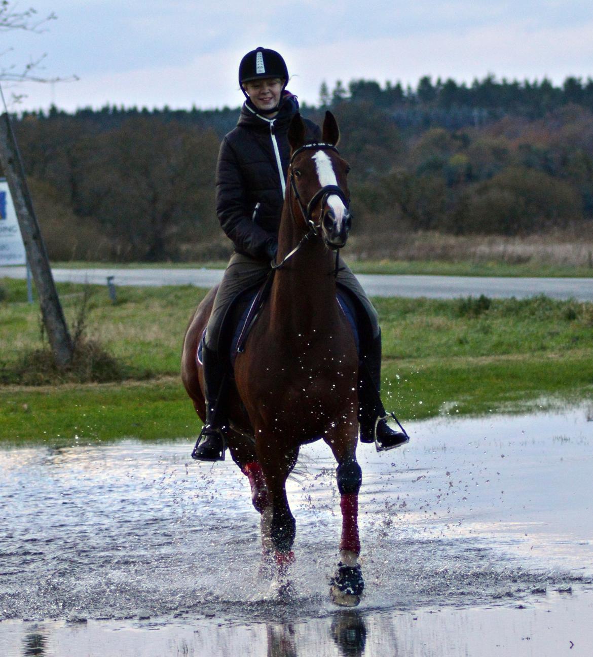
[{"label": "rider's black riding boot on the left side of the horse", "polygon": [[225,428],[227,424],[225,393],[227,369],[216,351],[202,347],[204,365],[204,391],[206,393],[206,422],[192,451],[192,459],[198,461],[225,460]]}]

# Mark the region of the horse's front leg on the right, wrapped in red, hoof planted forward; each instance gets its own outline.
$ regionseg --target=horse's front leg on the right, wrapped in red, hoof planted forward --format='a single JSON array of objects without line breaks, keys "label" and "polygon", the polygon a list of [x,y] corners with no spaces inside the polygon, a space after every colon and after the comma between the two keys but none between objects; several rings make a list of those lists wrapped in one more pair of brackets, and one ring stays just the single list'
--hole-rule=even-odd
[{"label": "horse's front leg on the right, wrapped in red, hoof planted forward", "polygon": [[[356,425],[355,425],[356,426]],[[338,469],[336,479],[340,491],[341,539],[340,562],[330,585],[330,597],[340,606],[356,606],[361,601],[364,580],[358,558],[361,552],[359,538],[359,490],[362,471],[356,460],[356,436],[347,423],[332,432],[325,440],[332,448]]]}]

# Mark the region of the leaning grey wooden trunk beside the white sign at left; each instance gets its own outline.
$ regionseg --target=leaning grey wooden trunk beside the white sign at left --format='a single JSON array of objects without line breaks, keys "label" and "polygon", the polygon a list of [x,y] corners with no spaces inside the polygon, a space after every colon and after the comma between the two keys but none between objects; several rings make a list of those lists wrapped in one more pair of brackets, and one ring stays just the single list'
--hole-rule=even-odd
[{"label": "leaning grey wooden trunk beside the white sign at left", "polygon": [[7,112],[0,116],[0,163],[11,190],[14,210],[33,274],[33,281],[35,281],[37,294],[39,294],[43,324],[54,353],[56,367],[64,369],[72,362],[74,351],[72,338],[68,332],[66,318],[51,274],[47,250],[45,250],[41,231],[39,231],[39,224],[35,217],[31,195]]}]

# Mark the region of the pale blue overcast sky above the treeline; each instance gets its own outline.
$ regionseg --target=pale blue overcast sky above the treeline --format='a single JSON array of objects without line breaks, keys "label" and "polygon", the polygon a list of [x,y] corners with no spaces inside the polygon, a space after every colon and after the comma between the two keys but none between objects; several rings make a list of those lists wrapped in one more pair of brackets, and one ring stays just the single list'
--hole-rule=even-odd
[{"label": "pale blue overcast sky above the treeline", "polygon": [[238,106],[236,69],[263,45],[286,59],[289,89],[317,104],[337,79],[401,81],[424,75],[560,83],[593,76],[591,0],[26,0],[55,12],[42,34],[0,33],[0,65],[47,53],[45,76],[79,81],[22,85],[18,108],[66,110]]}]

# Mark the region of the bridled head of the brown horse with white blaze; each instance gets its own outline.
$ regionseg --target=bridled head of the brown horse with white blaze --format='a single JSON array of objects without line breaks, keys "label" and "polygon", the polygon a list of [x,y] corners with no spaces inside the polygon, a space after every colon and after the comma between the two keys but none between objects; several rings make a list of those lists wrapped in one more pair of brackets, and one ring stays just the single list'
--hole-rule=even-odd
[{"label": "bridled head of the brown horse with white blaze", "polygon": [[292,214],[303,229],[320,231],[326,245],[338,249],[346,243],[352,223],[346,180],[350,168],[336,150],[340,129],[332,112],[326,112],[322,141],[307,144],[305,133],[296,114],[288,128]]}]

